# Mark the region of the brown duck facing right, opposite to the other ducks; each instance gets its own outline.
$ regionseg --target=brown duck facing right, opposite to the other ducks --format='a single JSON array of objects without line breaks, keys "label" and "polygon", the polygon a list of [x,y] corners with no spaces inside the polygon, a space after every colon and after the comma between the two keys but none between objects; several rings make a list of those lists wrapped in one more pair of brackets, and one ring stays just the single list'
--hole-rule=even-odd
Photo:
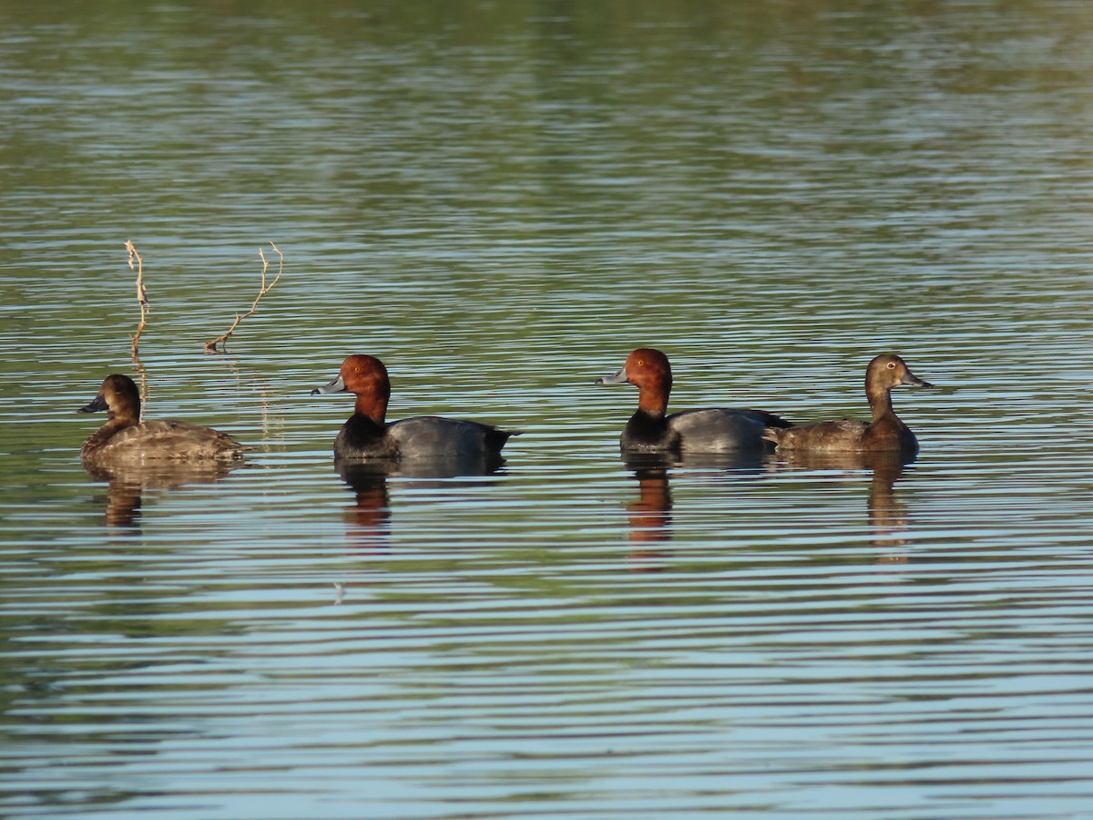
[{"label": "brown duck facing right, opposite to the other ducks", "polygon": [[873,411],[870,423],[856,419],[822,421],[789,430],[767,427],[764,433],[779,450],[812,450],[814,453],[918,453],[918,440],[910,429],[900,421],[892,409],[892,388],[933,387],[918,378],[897,355],[885,353],[875,356],[866,368],[866,397]]}]

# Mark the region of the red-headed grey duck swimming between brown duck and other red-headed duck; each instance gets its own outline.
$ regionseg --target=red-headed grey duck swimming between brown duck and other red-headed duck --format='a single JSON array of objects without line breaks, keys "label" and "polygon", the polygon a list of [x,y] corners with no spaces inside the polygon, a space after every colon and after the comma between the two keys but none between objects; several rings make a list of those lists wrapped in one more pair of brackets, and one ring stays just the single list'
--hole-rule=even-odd
[{"label": "red-headed grey duck swimming between brown duck and other red-headed duck", "polygon": [[491,424],[438,415],[415,415],[387,423],[387,401],[391,383],[387,367],[375,356],[351,355],[342,362],[338,376],[312,395],[352,393],[354,412],[334,438],[334,458],[446,459],[481,462],[500,461],[501,449],[518,433]]}]

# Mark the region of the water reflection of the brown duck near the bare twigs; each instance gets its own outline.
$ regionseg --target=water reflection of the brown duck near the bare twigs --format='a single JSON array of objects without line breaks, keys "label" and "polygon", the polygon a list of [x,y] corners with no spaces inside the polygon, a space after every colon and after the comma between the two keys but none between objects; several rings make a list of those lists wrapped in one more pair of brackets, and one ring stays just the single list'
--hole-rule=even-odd
[{"label": "water reflection of the brown duck near the bare twigs", "polygon": [[[105,524],[116,529],[139,529],[144,495],[149,491],[176,490],[188,484],[212,484],[227,476],[238,461],[119,467],[86,466],[95,481],[105,481]],[[102,499],[102,496],[97,496]]]}]

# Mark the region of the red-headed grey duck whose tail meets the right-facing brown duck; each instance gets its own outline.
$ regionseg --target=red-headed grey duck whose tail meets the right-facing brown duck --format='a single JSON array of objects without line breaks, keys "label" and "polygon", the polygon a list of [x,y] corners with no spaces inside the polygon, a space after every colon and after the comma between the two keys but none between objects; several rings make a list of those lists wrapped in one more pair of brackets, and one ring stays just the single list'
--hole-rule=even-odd
[{"label": "red-headed grey duck whose tail meets the right-facing brown duck", "polygon": [[626,422],[621,445],[624,453],[737,453],[762,450],[763,429],[790,426],[790,422],[762,410],[712,408],[683,410],[666,415],[672,389],[672,368],[659,350],[638,348],[613,376],[598,385],[628,383],[637,387],[637,412]]}]

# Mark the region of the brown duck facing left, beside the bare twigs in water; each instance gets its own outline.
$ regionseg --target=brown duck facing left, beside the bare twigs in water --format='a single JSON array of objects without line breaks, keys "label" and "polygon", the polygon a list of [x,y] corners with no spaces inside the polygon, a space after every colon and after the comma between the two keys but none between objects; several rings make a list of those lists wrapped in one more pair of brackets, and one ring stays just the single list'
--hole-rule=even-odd
[{"label": "brown duck facing left, beside the bare twigs in water", "polygon": [[239,458],[242,444],[210,427],[185,421],[140,420],[140,393],[129,376],[114,374],[87,405],[77,412],[106,410],[107,419],[80,449],[90,470],[144,464],[227,461]]}]

